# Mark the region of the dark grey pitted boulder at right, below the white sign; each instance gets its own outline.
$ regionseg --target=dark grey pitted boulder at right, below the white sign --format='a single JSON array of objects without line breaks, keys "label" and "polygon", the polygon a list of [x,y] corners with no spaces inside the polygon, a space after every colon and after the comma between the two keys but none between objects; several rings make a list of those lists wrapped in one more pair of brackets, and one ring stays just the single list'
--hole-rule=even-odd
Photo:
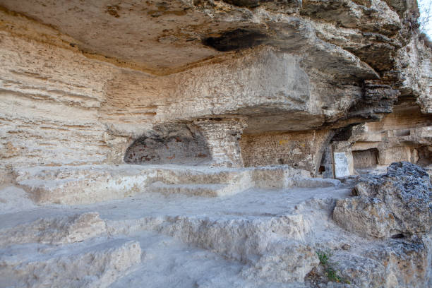
[{"label": "dark grey pitted boulder at right, below the white sign", "polygon": [[393,163],[387,174],[362,176],[356,185],[358,196],[337,200],[333,219],[364,236],[425,233],[432,227],[431,188],[423,168]]}]

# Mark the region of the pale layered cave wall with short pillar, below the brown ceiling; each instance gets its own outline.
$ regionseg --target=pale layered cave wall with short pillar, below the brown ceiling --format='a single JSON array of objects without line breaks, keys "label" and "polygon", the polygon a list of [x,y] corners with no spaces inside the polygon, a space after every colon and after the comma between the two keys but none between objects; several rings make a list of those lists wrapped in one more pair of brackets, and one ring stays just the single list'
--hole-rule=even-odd
[{"label": "pale layered cave wall with short pillar, below the brown ceiling", "polygon": [[[318,100],[315,90],[325,78],[306,73],[299,56],[260,49],[211,68],[155,77],[89,59],[68,44],[73,40],[66,35],[24,16],[0,13],[2,167],[120,163],[134,140],[158,135],[157,127],[217,115],[244,115],[248,133],[304,130],[325,121],[320,103],[336,103],[325,95]],[[348,102],[347,95],[340,101]],[[236,141],[243,128],[209,130],[202,124],[208,141],[203,145],[219,159],[213,162],[242,166]],[[227,160],[224,153],[231,153]],[[278,160],[255,164],[289,162],[286,156],[273,157]]]}]

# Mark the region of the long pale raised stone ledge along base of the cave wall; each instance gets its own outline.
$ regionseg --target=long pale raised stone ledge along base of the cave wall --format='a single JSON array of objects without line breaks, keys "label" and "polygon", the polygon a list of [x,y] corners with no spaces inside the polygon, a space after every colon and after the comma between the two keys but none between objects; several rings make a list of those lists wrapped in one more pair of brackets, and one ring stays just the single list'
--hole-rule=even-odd
[{"label": "long pale raised stone ledge along base of the cave wall", "polygon": [[14,171],[17,184],[39,204],[90,204],[143,192],[229,196],[248,188],[337,186],[287,166],[259,168],[176,165],[82,165],[31,167]]}]

